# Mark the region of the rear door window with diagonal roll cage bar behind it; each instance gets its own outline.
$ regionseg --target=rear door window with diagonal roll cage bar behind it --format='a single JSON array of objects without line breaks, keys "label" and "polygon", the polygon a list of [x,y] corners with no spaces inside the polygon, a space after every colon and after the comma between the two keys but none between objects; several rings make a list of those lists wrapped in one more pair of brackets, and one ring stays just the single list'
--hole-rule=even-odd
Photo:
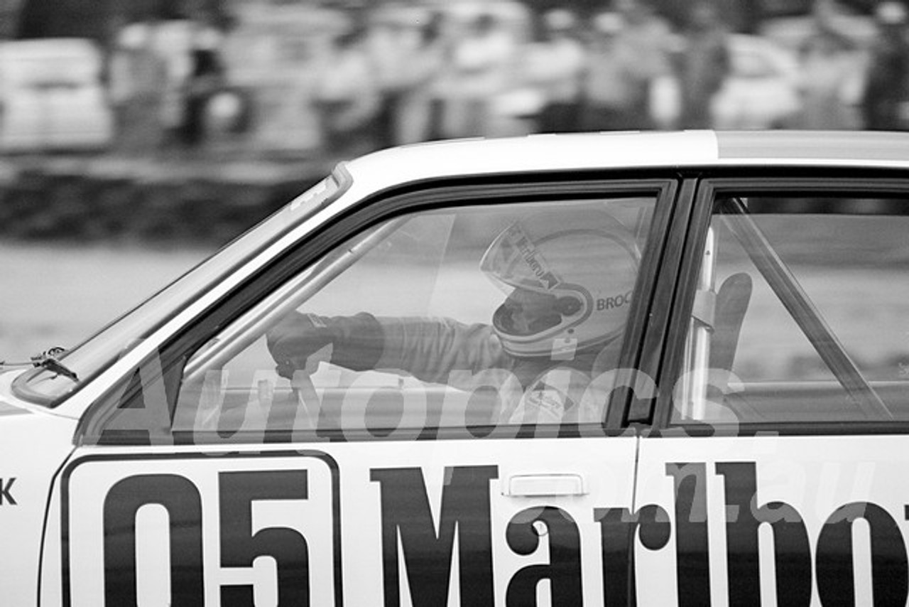
[{"label": "rear door window with diagonal roll cage bar behind it", "polygon": [[718,202],[674,421],[909,420],[902,201]]}]

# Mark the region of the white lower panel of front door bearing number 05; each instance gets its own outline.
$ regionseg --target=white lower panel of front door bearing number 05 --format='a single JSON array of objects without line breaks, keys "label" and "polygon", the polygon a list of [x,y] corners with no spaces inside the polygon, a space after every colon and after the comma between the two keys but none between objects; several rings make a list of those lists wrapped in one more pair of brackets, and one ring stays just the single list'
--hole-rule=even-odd
[{"label": "white lower panel of front door bearing number 05", "polygon": [[[374,602],[389,592],[386,585],[396,582],[399,568],[405,576],[400,582],[405,604],[427,596],[436,601],[450,597],[453,604],[471,601],[469,596],[474,604],[493,597],[504,602],[515,575],[544,558],[539,549],[521,557],[508,547],[517,541],[510,535],[526,532],[538,524],[536,518],[550,526],[550,541],[564,542],[568,556],[562,567],[569,582],[581,573],[572,553],[577,559],[578,550],[600,551],[594,505],[627,508],[631,503],[635,442],[633,437],[606,444],[580,439],[566,451],[559,440],[539,440],[533,458],[513,440],[484,440],[469,451],[461,441],[234,447],[203,453],[78,450],[60,476],[63,545],[69,546],[62,578],[72,584],[71,594],[63,593],[64,604],[93,605],[105,599],[123,604],[135,601],[136,594],[146,601],[165,600],[168,582],[175,584],[174,600],[196,604],[203,596],[205,604],[228,601],[219,592],[232,586],[241,594],[255,592],[257,602],[270,602],[277,593],[299,597],[300,584],[292,578],[275,581],[280,569],[275,572],[251,558],[244,561],[256,549],[275,555],[279,567],[293,568],[297,582],[308,575],[312,604]],[[551,481],[558,474],[576,475],[571,481],[581,482],[564,495],[548,494],[563,491],[545,485],[547,477]],[[520,484],[531,475],[544,480],[542,495]],[[175,498],[175,491],[185,499]],[[223,517],[228,512],[242,515],[244,508],[252,508],[252,522],[244,523],[252,524],[252,530],[228,526]],[[179,580],[160,566],[168,551],[168,521],[155,510],[170,516],[170,536],[176,542],[171,566],[180,559]],[[134,518],[135,528],[120,522]],[[195,536],[176,536],[187,522]],[[50,529],[56,528],[52,521]],[[263,533],[260,538],[273,533],[271,543],[250,544],[248,536],[256,532]],[[396,553],[389,552],[382,536],[398,532],[404,543]],[[293,548],[301,537],[308,562],[288,563],[289,553],[282,550]],[[48,538],[53,543],[55,532]],[[133,541],[139,547],[135,561],[130,556]],[[453,558],[451,541],[460,557]],[[144,561],[148,554],[155,558]],[[116,581],[107,586],[105,567],[108,579]],[[56,572],[48,570],[47,576],[45,602],[53,602],[57,592],[50,582]],[[600,577],[599,568],[584,568],[587,600],[595,602],[602,592]],[[574,588],[566,592],[577,598]]]}]

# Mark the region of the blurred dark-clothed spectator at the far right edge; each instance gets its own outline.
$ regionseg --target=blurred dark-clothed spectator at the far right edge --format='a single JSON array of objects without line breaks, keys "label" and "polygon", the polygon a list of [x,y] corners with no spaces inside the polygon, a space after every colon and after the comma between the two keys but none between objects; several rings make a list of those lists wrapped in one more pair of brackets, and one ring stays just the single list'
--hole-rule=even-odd
[{"label": "blurred dark-clothed spectator at the far right edge", "polygon": [[877,6],[879,35],[874,40],[863,97],[864,126],[872,130],[900,130],[906,124],[904,106],[909,78],[909,44],[906,42],[906,9],[899,2]]}]

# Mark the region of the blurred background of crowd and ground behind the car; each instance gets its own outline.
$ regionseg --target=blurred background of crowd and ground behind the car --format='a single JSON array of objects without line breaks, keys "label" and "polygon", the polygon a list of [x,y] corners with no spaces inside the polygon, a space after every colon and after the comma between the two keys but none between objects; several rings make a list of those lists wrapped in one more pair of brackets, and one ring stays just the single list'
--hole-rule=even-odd
[{"label": "blurred background of crowd and ground behind the car", "polygon": [[378,148],[903,130],[907,29],[900,0],[0,0],[0,359]]}]

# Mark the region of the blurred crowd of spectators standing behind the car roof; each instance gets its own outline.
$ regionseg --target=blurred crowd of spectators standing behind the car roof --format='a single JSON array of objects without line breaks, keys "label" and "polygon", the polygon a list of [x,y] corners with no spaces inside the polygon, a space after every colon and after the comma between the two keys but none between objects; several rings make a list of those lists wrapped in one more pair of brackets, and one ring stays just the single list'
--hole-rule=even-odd
[{"label": "blurred crowd of spectators standing behind the car roof", "polygon": [[[367,7],[340,15],[281,73],[280,119],[302,120],[309,147],[339,154],[572,131],[909,128],[902,2],[877,5],[859,36],[835,0],[817,0],[789,46],[732,31],[712,0],[692,0],[686,15],[670,22],[645,0],[604,1],[590,15],[514,1]],[[191,24],[176,67],[161,35],[149,23],[117,32],[107,86],[118,147],[248,141],[279,120],[261,80],[232,63],[232,31]]]}]

